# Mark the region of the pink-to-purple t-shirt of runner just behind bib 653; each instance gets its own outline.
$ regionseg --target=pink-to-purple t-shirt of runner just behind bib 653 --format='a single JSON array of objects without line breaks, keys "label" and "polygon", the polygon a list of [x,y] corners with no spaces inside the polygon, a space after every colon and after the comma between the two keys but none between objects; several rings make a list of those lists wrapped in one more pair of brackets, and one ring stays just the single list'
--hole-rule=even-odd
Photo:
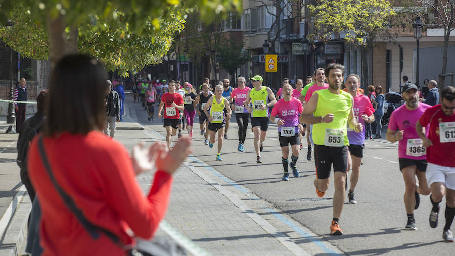
[{"label": "pink-to-purple t-shirt of runner just behind bib 653", "polygon": [[373,105],[371,105],[371,101],[367,96],[363,96],[361,94],[357,94],[354,97],[354,118],[357,119],[358,123],[363,125],[363,131],[355,132],[350,127],[348,127],[348,139],[349,144],[353,145],[363,145],[365,144],[365,121],[360,117],[360,115],[373,115],[375,109]]}]

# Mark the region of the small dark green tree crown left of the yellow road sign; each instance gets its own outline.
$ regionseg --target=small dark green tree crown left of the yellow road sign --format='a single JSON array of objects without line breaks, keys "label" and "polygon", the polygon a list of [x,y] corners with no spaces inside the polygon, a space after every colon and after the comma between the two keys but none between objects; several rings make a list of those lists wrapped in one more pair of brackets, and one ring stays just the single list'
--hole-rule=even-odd
[{"label": "small dark green tree crown left of the yellow road sign", "polygon": [[250,60],[249,52],[243,50],[243,40],[235,40],[234,37],[222,38],[215,46],[219,56],[219,65],[234,74],[240,65]]}]

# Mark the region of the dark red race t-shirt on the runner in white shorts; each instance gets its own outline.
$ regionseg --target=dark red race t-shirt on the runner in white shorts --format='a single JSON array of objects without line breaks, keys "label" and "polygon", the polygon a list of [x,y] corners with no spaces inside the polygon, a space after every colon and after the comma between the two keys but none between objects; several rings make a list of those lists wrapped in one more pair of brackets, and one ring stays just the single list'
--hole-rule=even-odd
[{"label": "dark red race t-shirt on the runner in white shorts", "polygon": [[424,127],[430,124],[428,138],[433,145],[427,148],[427,162],[455,167],[455,114],[446,116],[438,104],[428,108],[419,122]]}]

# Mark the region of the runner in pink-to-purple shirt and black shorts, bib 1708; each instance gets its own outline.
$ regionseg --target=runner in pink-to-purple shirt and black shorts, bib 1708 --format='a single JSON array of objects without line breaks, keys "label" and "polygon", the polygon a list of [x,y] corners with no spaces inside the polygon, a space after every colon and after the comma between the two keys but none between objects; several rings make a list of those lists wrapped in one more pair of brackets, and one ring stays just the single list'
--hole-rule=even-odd
[{"label": "runner in pink-to-purple shirt and black shorts, bib 1708", "polygon": [[[299,92],[300,93],[300,92]],[[278,125],[278,139],[281,147],[281,163],[283,164],[284,174],[282,180],[289,180],[288,157],[289,147],[291,145],[291,162],[292,174],[298,178],[300,176],[297,170],[297,160],[299,159],[299,115],[303,111],[300,100],[292,97],[292,86],[285,84],[283,86],[284,98],[277,101],[270,114],[270,121]]]}]

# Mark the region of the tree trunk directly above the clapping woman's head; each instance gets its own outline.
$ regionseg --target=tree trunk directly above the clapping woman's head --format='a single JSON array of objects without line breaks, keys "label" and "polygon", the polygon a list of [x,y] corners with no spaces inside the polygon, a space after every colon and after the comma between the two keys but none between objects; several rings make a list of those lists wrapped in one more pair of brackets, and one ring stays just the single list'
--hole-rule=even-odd
[{"label": "tree trunk directly above the clapping woman's head", "polygon": [[62,58],[66,53],[65,43],[65,22],[63,16],[59,14],[56,19],[51,18],[48,13],[47,17],[48,27],[48,40],[49,40],[49,58],[51,60],[51,70],[54,65]]}]

